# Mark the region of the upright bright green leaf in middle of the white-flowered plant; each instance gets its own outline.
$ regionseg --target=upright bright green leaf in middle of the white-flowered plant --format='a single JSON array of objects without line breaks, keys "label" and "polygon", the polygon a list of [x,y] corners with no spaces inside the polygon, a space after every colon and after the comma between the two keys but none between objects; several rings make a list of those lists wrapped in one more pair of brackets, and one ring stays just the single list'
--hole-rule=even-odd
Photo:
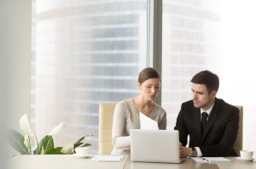
[{"label": "upright bright green leaf in middle of the white-flowered plant", "polygon": [[39,143],[36,149],[37,155],[42,155],[42,150],[44,148],[44,155],[48,155],[48,152],[55,148],[52,136],[45,136]]}]

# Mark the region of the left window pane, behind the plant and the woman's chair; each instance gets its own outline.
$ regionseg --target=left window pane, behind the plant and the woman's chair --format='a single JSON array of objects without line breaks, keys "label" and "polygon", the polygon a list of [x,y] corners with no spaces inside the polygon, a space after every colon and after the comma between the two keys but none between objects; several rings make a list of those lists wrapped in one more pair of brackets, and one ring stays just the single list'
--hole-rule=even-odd
[{"label": "left window pane, behind the plant and the woman's chair", "polygon": [[36,0],[32,124],[38,138],[65,121],[55,144],[87,134],[96,151],[100,103],[139,93],[147,63],[147,2]]}]

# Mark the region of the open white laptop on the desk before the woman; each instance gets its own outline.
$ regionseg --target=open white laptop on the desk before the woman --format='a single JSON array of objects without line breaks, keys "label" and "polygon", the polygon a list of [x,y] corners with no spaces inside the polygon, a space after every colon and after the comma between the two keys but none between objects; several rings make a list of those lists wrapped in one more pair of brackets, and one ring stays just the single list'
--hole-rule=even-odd
[{"label": "open white laptop on the desk before the woman", "polygon": [[181,163],[177,130],[131,129],[131,161]]}]

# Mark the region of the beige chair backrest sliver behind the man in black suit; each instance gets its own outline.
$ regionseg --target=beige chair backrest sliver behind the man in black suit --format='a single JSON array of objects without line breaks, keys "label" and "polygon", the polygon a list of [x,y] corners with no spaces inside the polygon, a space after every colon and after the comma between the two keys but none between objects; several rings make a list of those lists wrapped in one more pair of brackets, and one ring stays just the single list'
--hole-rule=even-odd
[{"label": "beige chair backrest sliver behind the man in black suit", "polygon": [[234,144],[234,149],[236,151],[236,154],[240,156],[240,150],[242,149],[243,107],[241,105],[236,105],[236,107],[239,109],[240,120],[239,120],[239,129],[238,129],[238,134],[236,138],[236,143]]}]

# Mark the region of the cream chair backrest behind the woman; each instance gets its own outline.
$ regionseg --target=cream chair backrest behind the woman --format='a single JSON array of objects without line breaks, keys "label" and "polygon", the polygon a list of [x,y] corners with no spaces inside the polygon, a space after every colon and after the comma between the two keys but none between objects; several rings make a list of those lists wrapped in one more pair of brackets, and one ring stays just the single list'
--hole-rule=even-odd
[{"label": "cream chair backrest behind the woman", "polygon": [[99,155],[110,155],[113,150],[113,111],[117,103],[102,103],[99,108]]}]

